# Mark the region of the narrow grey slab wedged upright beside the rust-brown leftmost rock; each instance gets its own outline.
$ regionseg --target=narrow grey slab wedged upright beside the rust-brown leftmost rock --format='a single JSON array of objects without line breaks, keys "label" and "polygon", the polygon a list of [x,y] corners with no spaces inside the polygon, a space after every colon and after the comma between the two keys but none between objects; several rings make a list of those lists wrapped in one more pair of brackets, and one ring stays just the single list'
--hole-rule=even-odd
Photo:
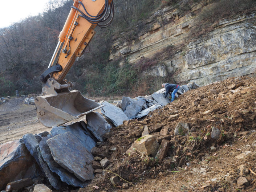
[{"label": "narrow grey slab wedged upright beside the rust-brown leftmost rock", "polygon": [[40,166],[40,162],[38,159],[38,152],[36,148],[36,146],[39,143],[37,142],[36,137],[33,134],[29,133],[29,134],[23,135],[22,138],[23,138],[23,143],[27,147],[28,151],[33,156],[33,158],[36,159],[37,164]]}]

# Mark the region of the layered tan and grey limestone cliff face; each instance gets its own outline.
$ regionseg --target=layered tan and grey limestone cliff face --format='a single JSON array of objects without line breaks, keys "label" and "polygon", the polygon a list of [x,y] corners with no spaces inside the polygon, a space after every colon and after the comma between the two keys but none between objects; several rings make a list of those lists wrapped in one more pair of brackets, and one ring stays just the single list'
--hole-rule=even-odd
[{"label": "layered tan and grey limestone cliff face", "polygon": [[136,63],[172,46],[177,50],[172,57],[162,58],[145,74],[164,77],[169,73],[176,83],[192,81],[199,85],[253,75],[256,72],[256,15],[219,21],[207,37],[188,40],[198,19],[196,13],[202,6],[195,4],[192,12],[183,16],[172,7],[155,12],[144,27],[148,30],[139,32],[138,38],[129,41],[125,37],[127,33],[123,33],[114,39],[110,60],[123,57]]}]

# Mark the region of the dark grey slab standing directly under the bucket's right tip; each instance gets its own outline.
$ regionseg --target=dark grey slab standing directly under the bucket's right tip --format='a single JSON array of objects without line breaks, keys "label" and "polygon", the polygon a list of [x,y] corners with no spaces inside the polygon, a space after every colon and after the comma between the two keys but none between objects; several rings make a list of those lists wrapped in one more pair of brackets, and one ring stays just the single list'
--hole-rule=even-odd
[{"label": "dark grey slab standing directly under the bucket's right tip", "polygon": [[[87,128],[92,132],[92,134],[101,142],[103,142],[103,135],[106,132],[110,132],[110,124],[107,123],[99,113],[89,113],[86,115]],[[92,149],[92,148],[91,148]],[[91,150],[90,149],[90,150]]]}]

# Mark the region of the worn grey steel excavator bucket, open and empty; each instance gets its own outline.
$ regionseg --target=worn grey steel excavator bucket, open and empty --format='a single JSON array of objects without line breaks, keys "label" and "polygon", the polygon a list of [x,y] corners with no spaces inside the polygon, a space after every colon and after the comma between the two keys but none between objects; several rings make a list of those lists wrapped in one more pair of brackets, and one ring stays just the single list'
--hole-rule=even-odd
[{"label": "worn grey steel excavator bucket, open and empty", "polygon": [[37,117],[46,127],[59,126],[103,107],[77,90],[38,96],[35,104]]}]

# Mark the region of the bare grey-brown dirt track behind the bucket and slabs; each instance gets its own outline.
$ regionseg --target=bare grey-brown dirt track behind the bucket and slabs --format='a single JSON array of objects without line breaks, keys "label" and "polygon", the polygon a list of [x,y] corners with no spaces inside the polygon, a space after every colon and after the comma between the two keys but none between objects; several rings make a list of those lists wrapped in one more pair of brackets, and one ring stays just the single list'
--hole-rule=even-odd
[{"label": "bare grey-brown dirt track behind the bucket and slabs", "polygon": [[27,133],[50,131],[36,117],[35,105],[25,105],[24,99],[13,97],[0,105],[0,144],[21,139]]}]

